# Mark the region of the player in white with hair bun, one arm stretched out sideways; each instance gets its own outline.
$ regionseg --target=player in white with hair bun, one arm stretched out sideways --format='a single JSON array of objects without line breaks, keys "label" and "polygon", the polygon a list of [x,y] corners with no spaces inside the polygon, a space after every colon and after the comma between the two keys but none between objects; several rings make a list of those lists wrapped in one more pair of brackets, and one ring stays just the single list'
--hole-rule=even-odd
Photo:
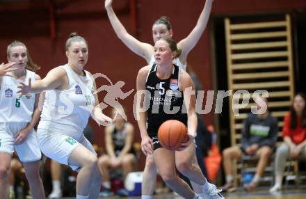
[{"label": "player in white with hair bun, one arm stretched out sideways", "polygon": [[99,198],[102,171],[97,154],[83,136],[91,116],[99,125],[111,122],[102,113],[95,93],[95,80],[84,70],[88,61],[86,40],[72,33],[66,42],[68,63],[50,70],[47,76],[29,85],[22,83],[19,93],[47,90],[38,142],[49,158],[77,170],[77,199]]}]

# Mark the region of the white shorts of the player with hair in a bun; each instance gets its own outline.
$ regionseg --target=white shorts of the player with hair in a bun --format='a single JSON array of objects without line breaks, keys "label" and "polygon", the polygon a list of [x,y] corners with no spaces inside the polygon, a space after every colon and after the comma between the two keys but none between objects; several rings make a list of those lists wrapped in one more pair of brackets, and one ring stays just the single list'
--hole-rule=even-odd
[{"label": "white shorts of the player with hair in a bun", "polygon": [[81,134],[81,136],[78,135],[77,137],[72,137],[63,133],[53,132],[50,129],[38,128],[38,142],[40,150],[42,150],[42,153],[45,154],[45,156],[54,159],[61,164],[70,166],[72,170],[78,170],[80,168],[80,166],[70,165],[68,162],[70,154],[79,145],[83,145],[97,156],[91,143],[83,134]]}]

